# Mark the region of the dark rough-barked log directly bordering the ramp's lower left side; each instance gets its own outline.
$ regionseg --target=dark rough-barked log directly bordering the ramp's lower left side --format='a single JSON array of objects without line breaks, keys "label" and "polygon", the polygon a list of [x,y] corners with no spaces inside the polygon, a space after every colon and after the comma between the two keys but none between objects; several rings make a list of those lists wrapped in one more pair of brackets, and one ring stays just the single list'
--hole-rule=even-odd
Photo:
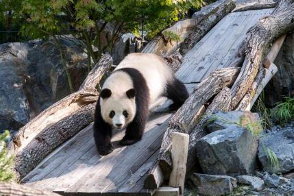
[{"label": "dark rough-barked log directly bordering the ramp's lower left side", "polygon": [[51,151],[93,122],[94,111],[95,103],[90,103],[38,134],[14,159],[16,179],[21,180]]}]

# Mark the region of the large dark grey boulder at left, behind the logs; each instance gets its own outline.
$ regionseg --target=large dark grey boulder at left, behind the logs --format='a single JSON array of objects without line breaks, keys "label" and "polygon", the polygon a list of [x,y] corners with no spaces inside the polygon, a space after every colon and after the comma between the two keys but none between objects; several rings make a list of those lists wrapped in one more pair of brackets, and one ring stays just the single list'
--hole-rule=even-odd
[{"label": "large dark grey boulder at left, behind the logs", "polygon": [[[77,90],[87,75],[87,60],[71,39],[60,41]],[[2,44],[0,62],[0,131],[19,130],[71,93],[58,47],[51,39]]]}]

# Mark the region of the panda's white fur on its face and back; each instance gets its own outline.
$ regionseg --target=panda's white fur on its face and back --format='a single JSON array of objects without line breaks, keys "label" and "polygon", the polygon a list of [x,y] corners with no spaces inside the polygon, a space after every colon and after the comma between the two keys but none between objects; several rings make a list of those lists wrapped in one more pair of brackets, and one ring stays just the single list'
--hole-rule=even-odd
[{"label": "panda's white fur on its face and back", "polygon": [[[167,82],[173,79],[173,72],[169,66],[165,64],[162,58],[152,53],[131,53],[115,70],[126,67],[138,70],[145,78],[149,88],[149,108],[153,107],[158,98],[162,96]],[[103,88],[112,91],[110,97],[100,100],[103,120],[114,127],[117,123],[123,124],[122,127],[125,127],[133,121],[136,114],[136,97],[129,99],[126,95],[127,90],[134,88],[130,75],[123,71],[114,72],[106,79]],[[111,119],[109,114],[112,110],[115,115]],[[123,116],[123,110],[128,112],[129,117]]]}]

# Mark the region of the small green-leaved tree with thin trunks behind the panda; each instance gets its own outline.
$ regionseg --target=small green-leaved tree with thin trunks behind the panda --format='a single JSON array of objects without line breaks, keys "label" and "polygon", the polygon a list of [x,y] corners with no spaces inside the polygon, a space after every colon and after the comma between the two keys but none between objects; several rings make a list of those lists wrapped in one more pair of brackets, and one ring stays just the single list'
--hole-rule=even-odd
[{"label": "small green-leaved tree with thin trunks behind the panda", "polygon": [[[21,17],[24,35],[32,38],[51,36],[60,49],[62,64],[72,90],[60,38],[71,34],[88,55],[88,70],[105,52],[112,53],[124,32],[147,32],[152,38],[171,23],[182,19],[190,8],[199,8],[202,0],[24,0]],[[101,34],[108,29],[106,42]],[[77,42],[75,42],[77,43]]]}]

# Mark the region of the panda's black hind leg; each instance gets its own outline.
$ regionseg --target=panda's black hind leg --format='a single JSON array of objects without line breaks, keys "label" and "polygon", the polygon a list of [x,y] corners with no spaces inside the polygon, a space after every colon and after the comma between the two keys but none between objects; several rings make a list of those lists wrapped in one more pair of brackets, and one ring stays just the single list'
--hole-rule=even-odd
[{"label": "panda's black hind leg", "polygon": [[186,86],[180,80],[173,77],[173,80],[167,83],[165,96],[173,101],[169,108],[177,110],[188,99],[189,94]]}]

